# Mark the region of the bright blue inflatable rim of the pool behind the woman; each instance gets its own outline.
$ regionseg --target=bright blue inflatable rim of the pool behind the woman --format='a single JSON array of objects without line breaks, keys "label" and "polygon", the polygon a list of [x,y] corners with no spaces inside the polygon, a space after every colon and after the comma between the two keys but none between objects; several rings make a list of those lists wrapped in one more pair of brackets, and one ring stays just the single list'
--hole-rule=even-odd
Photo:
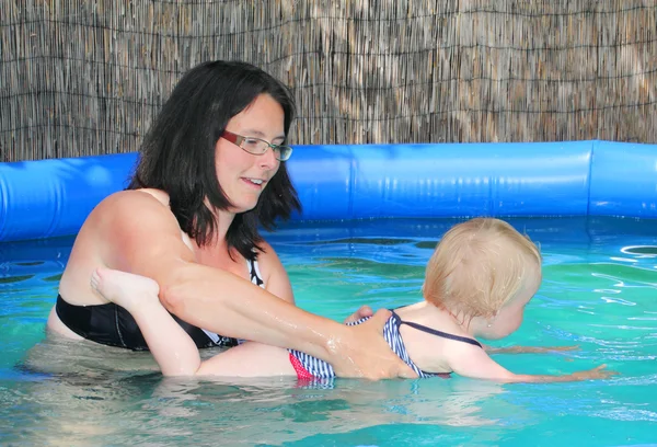
[{"label": "bright blue inflatable rim of the pool behind the woman", "polygon": [[[0,241],[74,234],[136,153],[0,163]],[[657,218],[657,145],[610,141],[296,146],[295,219]]]}]

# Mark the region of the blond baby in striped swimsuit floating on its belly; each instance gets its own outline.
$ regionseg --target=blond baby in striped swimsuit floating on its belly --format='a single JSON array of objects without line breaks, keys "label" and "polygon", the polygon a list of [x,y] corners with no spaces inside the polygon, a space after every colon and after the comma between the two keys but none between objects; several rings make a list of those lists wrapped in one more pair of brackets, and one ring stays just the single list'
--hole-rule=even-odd
[{"label": "blond baby in striped swimsuit floating on its belly", "polygon": [[[334,377],[330,364],[308,354],[245,342],[207,360],[158,298],[155,282],[99,268],[93,288],[135,318],[164,376]],[[522,322],[541,284],[541,254],[505,221],[476,218],[451,228],[431,255],[424,301],[391,311],[383,335],[418,377],[456,373],[496,380],[574,381],[614,373],[597,368],[563,376],[514,374],[494,362],[476,337],[503,339]],[[353,324],[359,324],[360,320]]]}]

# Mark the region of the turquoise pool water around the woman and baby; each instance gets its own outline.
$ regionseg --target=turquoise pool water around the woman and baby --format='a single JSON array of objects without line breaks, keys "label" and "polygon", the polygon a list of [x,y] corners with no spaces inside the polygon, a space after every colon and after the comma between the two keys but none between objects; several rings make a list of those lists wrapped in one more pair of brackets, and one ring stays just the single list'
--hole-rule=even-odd
[{"label": "turquoise pool water around the woman and baby", "polygon": [[[149,354],[45,340],[72,240],[0,244],[0,445],[636,446],[657,443],[657,226],[509,219],[541,245],[543,284],[497,346],[517,373],[600,364],[609,380],[163,379]],[[420,299],[424,265],[456,220],[293,224],[267,237],[298,306],[342,320]],[[235,297],[238,299],[238,297]],[[211,352],[206,352],[211,355]],[[656,444],[657,445],[657,444]]]}]

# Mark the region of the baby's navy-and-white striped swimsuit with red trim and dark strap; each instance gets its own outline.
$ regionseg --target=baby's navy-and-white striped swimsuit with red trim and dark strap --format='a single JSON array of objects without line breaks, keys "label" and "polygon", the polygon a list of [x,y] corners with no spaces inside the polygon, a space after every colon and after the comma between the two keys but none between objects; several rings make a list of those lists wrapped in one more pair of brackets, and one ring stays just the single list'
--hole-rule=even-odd
[{"label": "baby's navy-and-white striped swimsuit with red trim and dark strap", "polygon": [[[413,363],[413,360],[408,356],[406,346],[404,346],[404,341],[402,340],[402,335],[400,334],[400,326],[402,324],[410,325],[411,328],[417,329],[423,332],[430,333],[433,335],[437,335],[437,336],[441,336],[441,337],[450,339],[450,340],[456,340],[459,342],[469,343],[469,344],[482,347],[482,345],[476,340],[468,339],[468,337],[463,337],[463,336],[459,336],[459,335],[453,335],[453,334],[449,334],[446,332],[436,331],[431,328],[427,328],[422,324],[413,323],[410,321],[403,321],[400,318],[400,316],[397,316],[395,313],[394,310],[391,310],[391,312],[392,312],[392,316],[390,317],[390,319],[388,319],[388,321],[385,322],[385,325],[383,326],[383,339],[385,339],[385,342],[388,342],[388,344],[390,345],[392,351],[402,360],[404,360],[406,363],[406,365],[408,365],[411,367],[411,369],[413,369],[415,371],[415,374],[417,374],[417,377],[427,378],[427,377],[439,376],[439,377],[447,378],[447,377],[449,377],[449,373],[423,371],[422,369],[419,369],[417,367],[417,365],[415,365]],[[349,323],[349,325],[360,324],[367,320],[369,320],[369,317],[358,320],[354,323]],[[311,355],[308,355],[306,353],[302,353],[300,351],[296,351],[296,349],[288,349],[288,351],[290,353],[289,354],[290,363],[292,364],[295,371],[297,371],[297,377],[299,379],[318,380],[318,379],[331,379],[331,378],[335,377],[335,371],[333,370],[333,367],[331,366],[331,364],[328,364],[322,359],[319,359],[316,357],[313,357]]]}]

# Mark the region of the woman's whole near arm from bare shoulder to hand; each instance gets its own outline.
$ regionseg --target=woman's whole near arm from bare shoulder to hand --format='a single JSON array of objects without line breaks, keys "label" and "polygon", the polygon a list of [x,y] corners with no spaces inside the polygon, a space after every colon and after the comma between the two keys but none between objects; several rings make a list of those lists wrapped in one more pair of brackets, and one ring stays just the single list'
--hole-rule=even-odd
[{"label": "woman's whole near arm from bare shoulder to hand", "polygon": [[169,311],[197,326],[291,347],[333,365],[342,377],[370,379],[414,374],[382,337],[388,311],[358,326],[306,312],[229,272],[200,265],[168,206],[127,191],[104,200],[105,266],[154,279]]}]

